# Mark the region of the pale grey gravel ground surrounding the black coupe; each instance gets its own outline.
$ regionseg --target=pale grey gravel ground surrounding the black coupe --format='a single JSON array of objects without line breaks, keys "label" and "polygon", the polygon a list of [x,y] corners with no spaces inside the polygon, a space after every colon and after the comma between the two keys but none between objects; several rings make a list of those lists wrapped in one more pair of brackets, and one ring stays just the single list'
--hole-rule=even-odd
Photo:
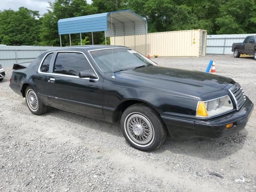
[{"label": "pale grey gravel ground surrounding the black coupe", "polygon": [[[240,82],[256,104],[253,58],[152,58],[160,66],[204,71]],[[154,152],[128,145],[118,124],[51,108],[32,115],[0,82],[0,191],[232,191],[256,192],[256,112],[226,138],[170,139]]]}]

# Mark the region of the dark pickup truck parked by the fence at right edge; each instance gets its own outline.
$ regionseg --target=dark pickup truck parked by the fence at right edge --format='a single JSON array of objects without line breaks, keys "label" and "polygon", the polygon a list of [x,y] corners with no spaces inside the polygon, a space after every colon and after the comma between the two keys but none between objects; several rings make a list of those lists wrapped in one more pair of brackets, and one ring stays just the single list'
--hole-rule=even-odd
[{"label": "dark pickup truck parked by the fence at right edge", "polygon": [[256,35],[247,36],[242,43],[233,43],[232,52],[234,57],[240,57],[240,54],[253,55],[256,60]]}]

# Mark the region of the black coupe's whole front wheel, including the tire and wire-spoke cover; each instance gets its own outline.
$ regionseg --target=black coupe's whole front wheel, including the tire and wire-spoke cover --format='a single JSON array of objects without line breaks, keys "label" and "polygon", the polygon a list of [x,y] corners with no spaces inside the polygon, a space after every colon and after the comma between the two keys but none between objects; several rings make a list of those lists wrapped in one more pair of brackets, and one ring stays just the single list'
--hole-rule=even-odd
[{"label": "black coupe's whole front wheel, including the tire and wire-spoke cover", "polygon": [[146,104],[134,104],[121,117],[122,133],[126,141],[142,151],[153,151],[162,146],[167,130],[160,115]]}]

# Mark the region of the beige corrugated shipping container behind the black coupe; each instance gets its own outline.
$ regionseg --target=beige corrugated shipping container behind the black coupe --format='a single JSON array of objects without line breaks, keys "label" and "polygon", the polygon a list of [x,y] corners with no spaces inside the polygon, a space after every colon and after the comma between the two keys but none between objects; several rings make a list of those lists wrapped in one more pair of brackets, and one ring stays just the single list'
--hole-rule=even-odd
[{"label": "beige corrugated shipping container behind the black coupe", "polygon": [[[206,30],[186,30],[148,33],[146,35],[136,35],[136,47],[134,46],[134,36],[112,37],[112,45],[121,45],[135,49],[136,51],[150,56],[160,57],[170,56],[204,56],[206,53]],[[147,44],[146,44],[147,42]],[[146,46],[145,46],[146,44]]]}]

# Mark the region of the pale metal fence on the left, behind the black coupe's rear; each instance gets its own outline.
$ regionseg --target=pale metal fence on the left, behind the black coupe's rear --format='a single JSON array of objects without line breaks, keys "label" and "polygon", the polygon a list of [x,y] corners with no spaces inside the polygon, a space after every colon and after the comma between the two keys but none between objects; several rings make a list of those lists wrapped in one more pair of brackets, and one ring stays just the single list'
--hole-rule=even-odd
[{"label": "pale metal fence on the left, behind the black coupe's rear", "polygon": [[53,46],[6,46],[0,45],[0,64],[3,67],[14,63],[33,61],[42,52],[59,47]]}]

